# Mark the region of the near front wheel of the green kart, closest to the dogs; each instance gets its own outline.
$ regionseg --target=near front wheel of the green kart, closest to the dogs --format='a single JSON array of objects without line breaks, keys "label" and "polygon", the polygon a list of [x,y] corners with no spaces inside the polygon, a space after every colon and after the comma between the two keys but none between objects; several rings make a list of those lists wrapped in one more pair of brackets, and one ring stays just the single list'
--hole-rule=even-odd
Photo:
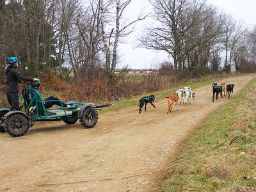
[{"label": "near front wheel of the green kart, closest to the dogs", "polygon": [[97,123],[97,121],[97,111],[92,107],[85,108],[82,117],[80,118],[81,125],[85,128],[91,128]]}]

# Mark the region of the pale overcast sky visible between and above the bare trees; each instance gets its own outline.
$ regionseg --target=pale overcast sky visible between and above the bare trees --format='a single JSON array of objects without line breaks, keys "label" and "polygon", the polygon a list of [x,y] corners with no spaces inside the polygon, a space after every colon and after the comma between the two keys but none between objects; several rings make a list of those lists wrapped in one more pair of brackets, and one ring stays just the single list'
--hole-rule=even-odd
[{"label": "pale overcast sky visible between and above the bare trees", "polygon": [[[209,4],[217,6],[225,13],[230,13],[234,19],[243,20],[248,27],[256,26],[256,1],[255,0],[208,0]],[[140,10],[145,8],[145,12],[149,12],[150,4],[148,0],[133,0],[129,4],[127,14],[129,17],[136,18]],[[157,63],[168,60],[165,52],[150,51],[147,49],[136,47],[136,38],[142,33],[143,27],[147,24],[147,20],[143,20],[136,25],[136,31],[127,38],[125,44],[119,47],[121,58],[118,68],[128,65],[129,68],[143,69],[154,68]]]}]

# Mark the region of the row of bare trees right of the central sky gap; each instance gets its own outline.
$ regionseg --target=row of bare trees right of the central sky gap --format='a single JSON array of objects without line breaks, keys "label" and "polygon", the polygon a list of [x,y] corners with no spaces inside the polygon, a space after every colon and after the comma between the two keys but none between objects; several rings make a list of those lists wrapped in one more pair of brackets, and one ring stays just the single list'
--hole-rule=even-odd
[{"label": "row of bare trees right of the central sky gap", "polygon": [[[230,73],[255,70],[256,26],[243,22],[200,0],[153,0],[155,25],[143,35],[141,44],[165,51],[173,58],[176,72],[191,77],[204,72]],[[221,66],[223,64],[223,67]],[[168,65],[168,63],[164,63]]]}]

